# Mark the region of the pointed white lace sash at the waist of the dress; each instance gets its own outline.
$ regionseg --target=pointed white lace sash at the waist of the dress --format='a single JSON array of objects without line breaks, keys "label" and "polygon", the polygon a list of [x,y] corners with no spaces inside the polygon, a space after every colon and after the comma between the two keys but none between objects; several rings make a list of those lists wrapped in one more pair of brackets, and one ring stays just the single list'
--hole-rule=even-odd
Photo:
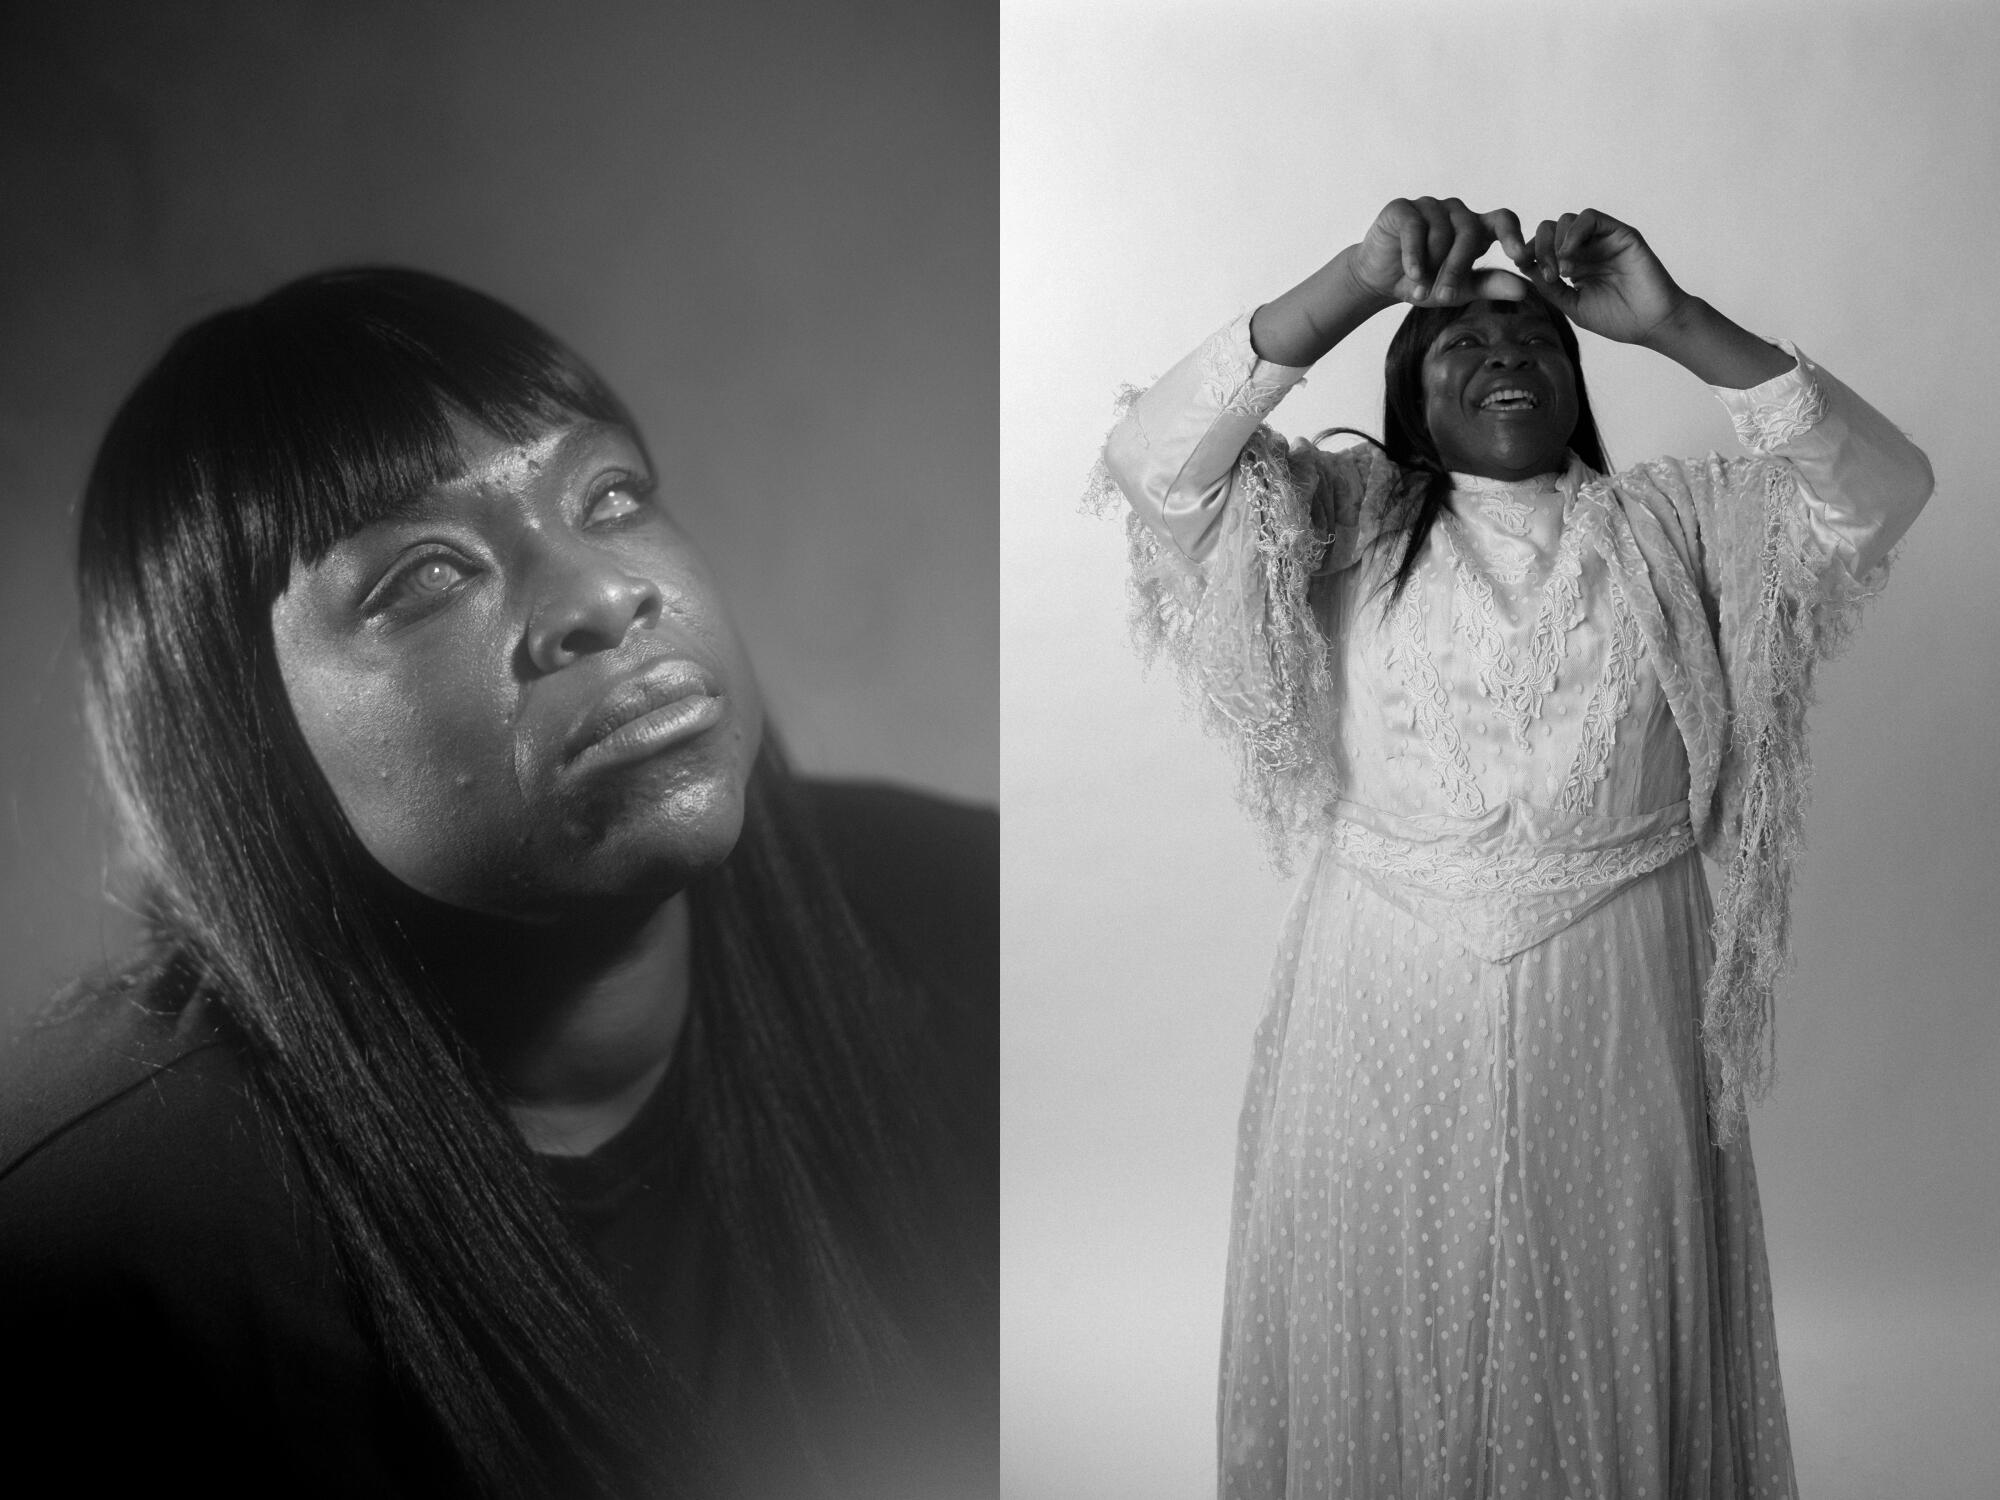
[{"label": "pointed white lace sash at the waist of the dress", "polygon": [[1392,906],[1488,962],[1548,942],[1694,848],[1688,804],[1596,818],[1504,802],[1476,818],[1332,804],[1326,848]]}]

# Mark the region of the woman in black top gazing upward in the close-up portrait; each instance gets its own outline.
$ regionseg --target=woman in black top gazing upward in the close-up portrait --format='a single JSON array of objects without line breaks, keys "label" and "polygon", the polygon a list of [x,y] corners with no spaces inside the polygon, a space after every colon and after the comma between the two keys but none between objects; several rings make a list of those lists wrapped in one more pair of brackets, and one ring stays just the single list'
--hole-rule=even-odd
[{"label": "woman in black top gazing upward in the close-up portrait", "polygon": [[402,270],[208,318],[112,422],[150,940],[0,1090],[72,1488],[990,1486],[994,820],[796,782],[658,490],[572,352]]}]

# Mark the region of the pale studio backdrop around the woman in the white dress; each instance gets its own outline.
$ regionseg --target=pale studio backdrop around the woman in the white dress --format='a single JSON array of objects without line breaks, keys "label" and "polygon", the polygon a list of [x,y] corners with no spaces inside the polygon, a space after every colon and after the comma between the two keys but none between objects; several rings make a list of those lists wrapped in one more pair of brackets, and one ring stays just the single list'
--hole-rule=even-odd
[{"label": "pale studio backdrop around the woman in the white dress", "polygon": [[[1008,1500],[1212,1492],[1236,1106],[1290,882],[1126,636],[1076,498],[1120,382],[1422,192],[1602,208],[1794,338],[1938,494],[1820,678],[1818,780],[1752,1116],[1808,1500],[2000,1472],[2000,16],[1944,6],[1002,10]],[[1274,416],[1380,430],[1396,314]],[[1736,452],[1708,392],[1584,334],[1618,464]]]}]

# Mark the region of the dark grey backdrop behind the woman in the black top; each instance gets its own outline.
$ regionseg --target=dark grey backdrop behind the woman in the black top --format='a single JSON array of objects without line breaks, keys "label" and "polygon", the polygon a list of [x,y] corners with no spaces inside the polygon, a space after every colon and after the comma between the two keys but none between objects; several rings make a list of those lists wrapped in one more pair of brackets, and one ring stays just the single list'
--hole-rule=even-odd
[{"label": "dark grey backdrop behind the woman in the black top", "polygon": [[646,428],[808,772],[998,792],[996,18],[962,0],[0,6],[0,1014],[124,944],[74,504],[192,320],[466,280]]}]

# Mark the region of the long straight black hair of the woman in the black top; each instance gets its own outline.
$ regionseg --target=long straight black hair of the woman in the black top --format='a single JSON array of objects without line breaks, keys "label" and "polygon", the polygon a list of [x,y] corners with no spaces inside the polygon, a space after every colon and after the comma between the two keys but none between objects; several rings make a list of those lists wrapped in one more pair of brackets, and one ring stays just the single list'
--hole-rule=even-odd
[{"label": "long straight black hair of the woman in the black top", "polygon": [[[452,476],[454,416],[512,442],[576,418],[638,438],[542,328],[420,272],[310,276],[182,334],[88,480],[86,716],[140,870],[148,972],[178,976],[156,998],[200,996],[240,1034],[362,1328],[470,1484],[710,1494],[698,1392],[656,1378],[564,1224],[424,972],[410,892],[342,816],[276,668],[290,570]],[[934,1250],[954,1174],[912,990],[856,924],[770,740],[738,846],[690,908],[676,1066],[698,1190],[760,1378],[798,1414],[816,1378],[904,1372],[910,1288],[954,1304]]]}]

